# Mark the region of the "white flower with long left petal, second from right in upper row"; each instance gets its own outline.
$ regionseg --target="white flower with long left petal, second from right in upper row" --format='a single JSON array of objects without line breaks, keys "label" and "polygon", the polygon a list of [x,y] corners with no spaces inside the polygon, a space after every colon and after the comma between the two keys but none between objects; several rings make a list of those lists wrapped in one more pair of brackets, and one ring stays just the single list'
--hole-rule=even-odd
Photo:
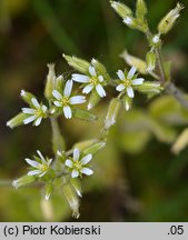
[{"label": "white flower with long left petal, second from right in upper row", "polygon": [[76,74],[72,74],[72,80],[76,82],[85,83],[85,88],[82,90],[82,93],[88,94],[93,89],[96,89],[97,93],[101,98],[106,97],[106,91],[102,87],[102,84],[105,82],[103,77],[98,76],[96,72],[96,69],[92,66],[89,67],[89,76],[76,73]]}]

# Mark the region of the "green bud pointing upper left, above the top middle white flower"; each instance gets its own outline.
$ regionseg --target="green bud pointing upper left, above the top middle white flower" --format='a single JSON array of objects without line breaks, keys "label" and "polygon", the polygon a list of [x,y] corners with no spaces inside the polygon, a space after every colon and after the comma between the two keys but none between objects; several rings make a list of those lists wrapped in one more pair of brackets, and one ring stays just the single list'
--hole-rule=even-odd
[{"label": "green bud pointing upper left, above the top middle white flower", "polygon": [[62,57],[67,60],[68,64],[75,68],[76,70],[88,74],[90,63],[83,59],[79,59],[76,57],[70,57],[62,54]]}]

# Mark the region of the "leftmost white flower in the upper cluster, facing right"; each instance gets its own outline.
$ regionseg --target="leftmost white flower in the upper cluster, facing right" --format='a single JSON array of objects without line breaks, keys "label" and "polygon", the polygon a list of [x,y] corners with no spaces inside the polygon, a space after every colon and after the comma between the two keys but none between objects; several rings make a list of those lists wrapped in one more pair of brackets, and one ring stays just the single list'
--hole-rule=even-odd
[{"label": "leftmost white flower in the upper cluster, facing right", "polygon": [[34,126],[39,126],[42,118],[47,117],[47,107],[44,104],[39,104],[36,98],[31,99],[33,108],[22,108],[22,112],[29,117],[23,120],[24,124],[33,121]]}]

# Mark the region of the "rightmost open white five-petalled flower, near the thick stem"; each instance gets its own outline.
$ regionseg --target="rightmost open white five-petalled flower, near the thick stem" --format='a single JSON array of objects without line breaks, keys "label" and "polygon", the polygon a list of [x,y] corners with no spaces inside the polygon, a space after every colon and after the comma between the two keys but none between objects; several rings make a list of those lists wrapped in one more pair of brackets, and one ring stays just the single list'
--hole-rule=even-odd
[{"label": "rightmost open white five-petalled flower, near the thick stem", "polygon": [[122,72],[121,70],[118,70],[117,74],[120,79],[120,83],[116,87],[117,91],[125,91],[127,92],[127,96],[129,98],[133,98],[135,93],[133,93],[133,86],[139,86],[142,84],[144,80],[142,78],[137,78],[137,76],[135,74],[137,71],[137,69],[135,67],[132,67],[129,72],[126,74],[125,72]]}]

